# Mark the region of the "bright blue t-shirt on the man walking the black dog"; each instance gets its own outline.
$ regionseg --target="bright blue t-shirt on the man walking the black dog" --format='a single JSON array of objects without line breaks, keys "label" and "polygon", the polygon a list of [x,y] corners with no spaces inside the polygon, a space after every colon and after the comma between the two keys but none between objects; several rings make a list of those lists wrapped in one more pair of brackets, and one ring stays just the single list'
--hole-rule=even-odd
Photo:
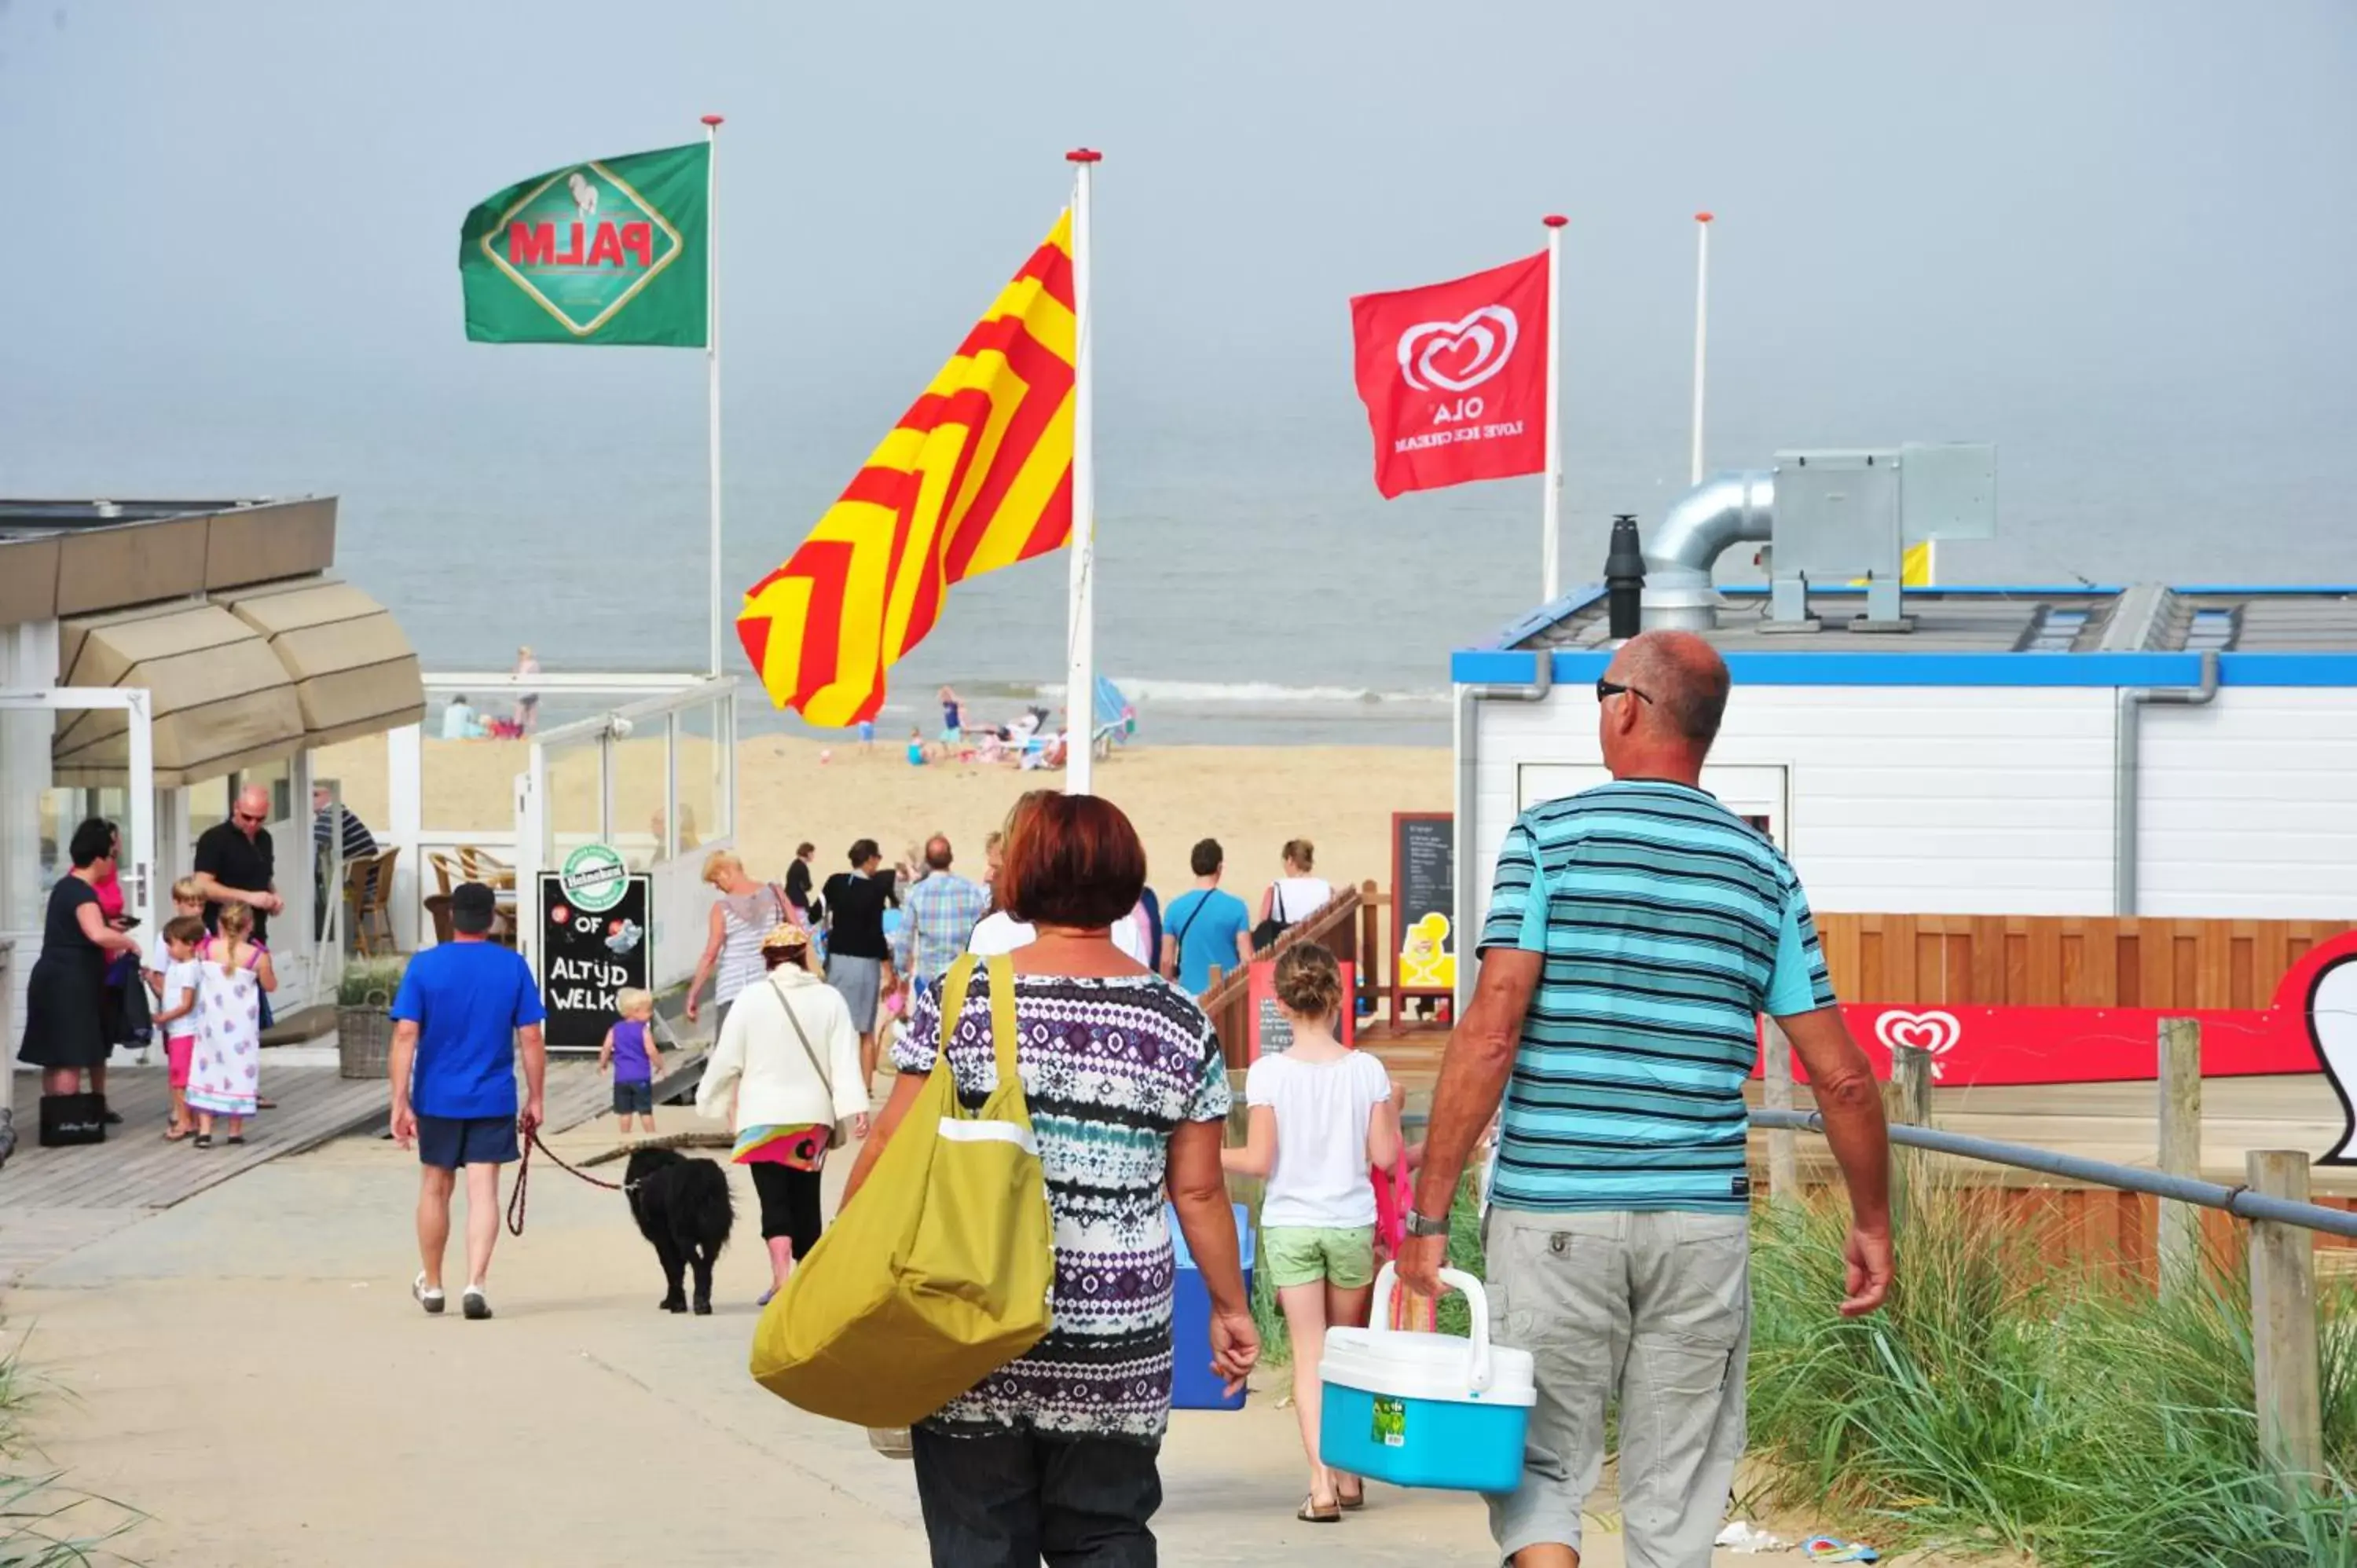
[{"label": "bright blue t-shirt on the man walking the black dog", "polygon": [[516,1030],[540,1023],[540,986],[514,948],[445,941],[410,960],[394,1019],[417,1026],[417,1115],[516,1115]]}]

